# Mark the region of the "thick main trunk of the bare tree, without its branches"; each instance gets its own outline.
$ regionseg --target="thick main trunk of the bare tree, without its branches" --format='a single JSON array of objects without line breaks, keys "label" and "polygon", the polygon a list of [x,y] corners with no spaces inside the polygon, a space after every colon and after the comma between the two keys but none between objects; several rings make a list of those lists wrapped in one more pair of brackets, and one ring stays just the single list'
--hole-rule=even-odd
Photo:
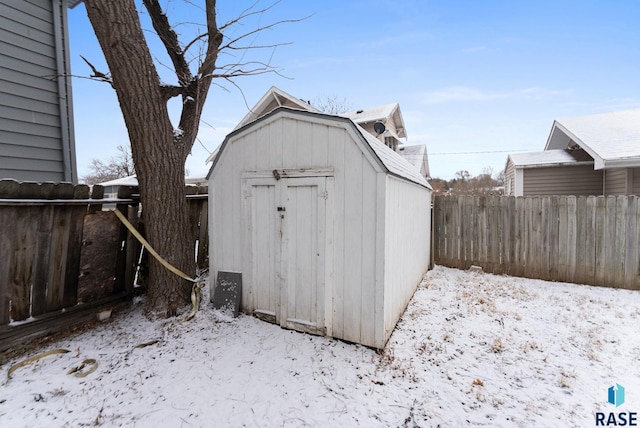
[{"label": "thick main trunk of the bare tree, without its branches", "polygon": [[[129,132],[147,239],[171,264],[192,275],[195,262],[184,196],[191,145],[174,135],[134,0],[85,0],[85,6]],[[176,314],[188,302],[189,290],[187,281],[150,259],[147,313]]]}]

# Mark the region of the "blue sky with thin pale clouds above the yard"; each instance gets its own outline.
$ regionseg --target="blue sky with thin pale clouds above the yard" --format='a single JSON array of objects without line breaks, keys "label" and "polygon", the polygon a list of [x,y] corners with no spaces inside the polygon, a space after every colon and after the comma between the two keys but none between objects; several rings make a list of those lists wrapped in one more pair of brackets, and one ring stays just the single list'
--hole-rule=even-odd
[{"label": "blue sky with thin pale clouds above the yard", "polygon": [[[219,0],[221,21],[252,3]],[[200,16],[181,1],[164,4],[170,20]],[[543,150],[556,118],[640,107],[635,0],[283,0],[261,22],[305,16],[255,40],[292,42],[258,54],[286,78],[238,79],[243,93],[212,86],[187,161],[192,175],[208,171],[209,152],[247,113],[244,99],[253,106],[271,86],[352,109],[398,102],[407,144],[426,144],[431,175],[445,179],[487,167],[497,174],[508,152]],[[69,26],[73,74],[90,74],[79,55],[106,69],[83,5],[69,11]],[[108,85],[75,77],[73,97],[82,177],[128,137]]]}]

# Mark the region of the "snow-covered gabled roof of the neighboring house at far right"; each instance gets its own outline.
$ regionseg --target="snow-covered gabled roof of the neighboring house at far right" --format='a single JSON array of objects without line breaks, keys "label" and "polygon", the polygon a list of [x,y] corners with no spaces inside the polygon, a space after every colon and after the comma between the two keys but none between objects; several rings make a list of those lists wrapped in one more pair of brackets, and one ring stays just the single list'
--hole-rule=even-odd
[{"label": "snow-covered gabled roof of the neighboring house at far right", "polygon": [[596,169],[640,166],[640,109],[558,119],[546,148],[565,149],[569,140],[595,159]]}]

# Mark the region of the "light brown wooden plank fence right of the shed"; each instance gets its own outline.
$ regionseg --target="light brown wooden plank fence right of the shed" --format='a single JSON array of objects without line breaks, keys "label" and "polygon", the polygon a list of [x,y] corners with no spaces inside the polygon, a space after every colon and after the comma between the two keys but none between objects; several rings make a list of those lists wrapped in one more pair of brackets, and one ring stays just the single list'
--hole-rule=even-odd
[{"label": "light brown wooden plank fence right of the shed", "polygon": [[434,262],[640,290],[636,196],[436,196]]}]

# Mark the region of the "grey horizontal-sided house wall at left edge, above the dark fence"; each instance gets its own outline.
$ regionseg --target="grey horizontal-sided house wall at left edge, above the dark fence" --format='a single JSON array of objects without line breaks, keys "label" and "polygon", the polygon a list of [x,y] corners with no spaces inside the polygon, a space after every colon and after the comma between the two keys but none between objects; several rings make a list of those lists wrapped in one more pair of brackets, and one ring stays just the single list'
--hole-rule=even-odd
[{"label": "grey horizontal-sided house wall at left edge, above the dark fence", "polygon": [[66,0],[0,0],[0,179],[76,183]]}]

